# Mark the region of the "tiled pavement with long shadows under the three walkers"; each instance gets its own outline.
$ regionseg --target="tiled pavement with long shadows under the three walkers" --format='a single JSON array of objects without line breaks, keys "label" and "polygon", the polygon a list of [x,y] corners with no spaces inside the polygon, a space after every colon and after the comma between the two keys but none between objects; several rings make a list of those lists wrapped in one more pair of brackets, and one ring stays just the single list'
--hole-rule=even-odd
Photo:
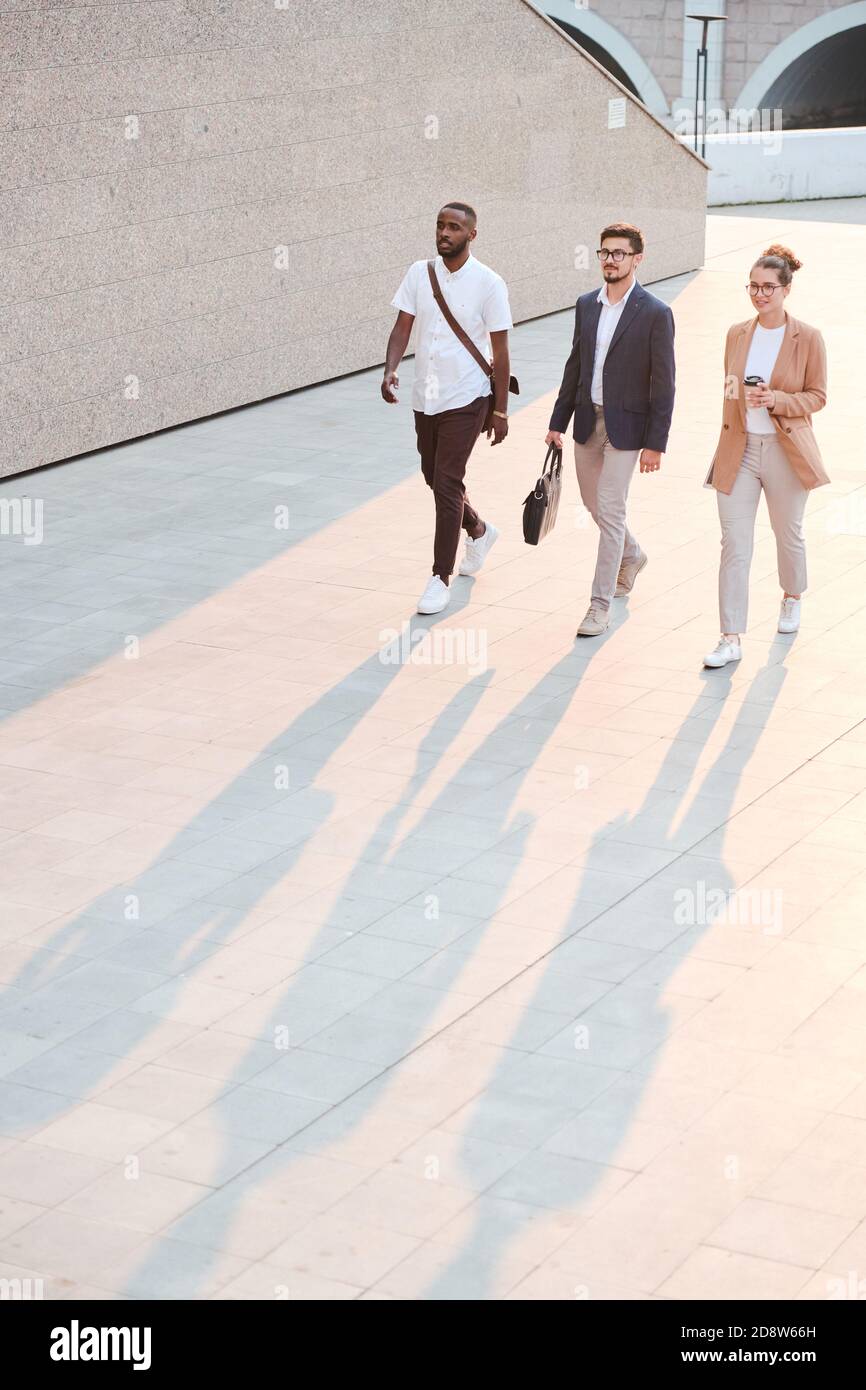
[{"label": "tiled pavement with long shadows under the three walkers", "polygon": [[[410,363],[399,410],[367,373],[3,488],[44,535],[0,564],[0,1277],[866,1279],[863,203],[766,213],[712,217],[706,268],[655,286],[676,424],[602,639],[574,642],[570,470],[553,537],[520,537],[569,314],[514,334],[520,410],[473,464],[503,535],[439,620]],[[828,343],[834,481],[799,637],[765,513],[742,664],[705,673],[723,335],[776,238]]]}]

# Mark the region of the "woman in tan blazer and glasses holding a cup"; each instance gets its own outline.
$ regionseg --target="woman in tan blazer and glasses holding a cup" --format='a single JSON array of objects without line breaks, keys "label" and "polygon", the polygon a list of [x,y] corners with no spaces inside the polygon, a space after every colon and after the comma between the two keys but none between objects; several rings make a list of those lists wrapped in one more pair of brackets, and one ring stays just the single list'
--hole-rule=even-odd
[{"label": "woman in tan blazer and glasses holding a cup", "polygon": [[[783,589],[780,632],[799,627],[806,588],[803,510],[812,488],[828,482],[812,414],[827,403],[827,357],[817,328],[785,311],[801,261],[785,246],[759,256],[746,286],[755,318],[734,324],[724,345],[724,406],[719,445],[705,485],[716,489],[721,521],[719,614],[721,639],[705,666],[742,656],[755,517],[763,491],[776,535]],[[758,378],[758,385],[746,385]]]}]

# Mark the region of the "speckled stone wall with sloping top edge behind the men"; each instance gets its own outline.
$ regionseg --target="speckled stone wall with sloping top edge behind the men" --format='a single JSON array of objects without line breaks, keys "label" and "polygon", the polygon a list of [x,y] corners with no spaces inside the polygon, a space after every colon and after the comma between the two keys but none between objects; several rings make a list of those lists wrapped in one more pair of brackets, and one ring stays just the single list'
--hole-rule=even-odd
[{"label": "speckled stone wall with sloping top edge behind the men", "polygon": [[382,360],[446,199],[516,318],[701,264],[706,167],[524,0],[1,0],[0,468]]}]

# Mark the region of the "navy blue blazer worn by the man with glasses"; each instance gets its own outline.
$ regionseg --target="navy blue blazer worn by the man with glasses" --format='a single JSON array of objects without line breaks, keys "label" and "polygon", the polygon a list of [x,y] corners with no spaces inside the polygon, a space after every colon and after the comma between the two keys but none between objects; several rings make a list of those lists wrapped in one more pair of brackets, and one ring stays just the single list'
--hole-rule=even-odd
[{"label": "navy blue blazer worn by the man with glasses", "polygon": [[[595,430],[589,389],[601,313],[598,289],[581,295],[574,306],[571,353],[550,416],[549,428],[562,434],[574,414],[578,443],[585,443]],[[602,396],[614,449],[664,453],[674,410],[674,316],[637,282],[607,348]]]}]

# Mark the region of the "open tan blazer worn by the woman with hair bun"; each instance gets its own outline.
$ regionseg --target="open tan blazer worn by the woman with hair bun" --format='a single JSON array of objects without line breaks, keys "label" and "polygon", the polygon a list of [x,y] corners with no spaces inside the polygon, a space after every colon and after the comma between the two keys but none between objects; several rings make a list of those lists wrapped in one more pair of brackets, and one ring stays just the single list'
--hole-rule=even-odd
[{"label": "open tan blazer worn by the woman with hair bun", "polygon": [[[724,345],[724,404],[721,430],[705,486],[730,492],[745,449],[745,393],[742,374],[758,314],[728,328]],[[769,386],[776,392],[770,418],[788,463],[805,488],[830,482],[824,471],[817,439],[812,430],[812,411],[827,404],[827,353],[817,328],[801,324],[785,313],[785,335],[773,367]]]}]

